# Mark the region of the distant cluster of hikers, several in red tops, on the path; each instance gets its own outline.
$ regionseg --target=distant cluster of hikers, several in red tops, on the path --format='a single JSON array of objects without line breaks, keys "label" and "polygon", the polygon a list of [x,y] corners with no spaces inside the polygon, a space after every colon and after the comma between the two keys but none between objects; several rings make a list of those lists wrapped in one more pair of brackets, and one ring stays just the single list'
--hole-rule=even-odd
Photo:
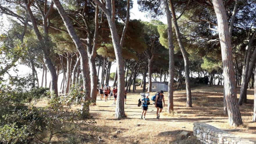
[{"label": "distant cluster of hikers, several in red tops, on the path", "polygon": [[[114,104],[116,104],[115,101],[117,98],[117,86],[113,87],[112,94],[114,96]],[[105,102],[106,102],[108,100],[108,97],[110,99],[112,94],[111,94],[111,87],[107,86],[107,84],[105,84],[104,86],[103,86],[103,84],[98,85],[98,95],[100,95],[100,100],[102,100],[103,97],[105,97]],[[125,104],[126,104],[126,95],[127,95],[126,88],[125,88],[124,94],[125,94],[124,100],[125,100]]]}]

